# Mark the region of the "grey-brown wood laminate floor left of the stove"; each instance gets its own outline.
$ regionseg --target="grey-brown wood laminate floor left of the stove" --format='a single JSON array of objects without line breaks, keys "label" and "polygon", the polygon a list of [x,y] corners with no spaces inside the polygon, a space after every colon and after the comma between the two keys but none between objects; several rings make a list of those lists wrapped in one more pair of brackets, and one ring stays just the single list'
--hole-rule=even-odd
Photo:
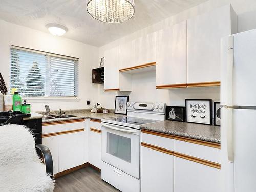
[{"label": "grey-brown wood laminate floor left of the stove", "polygon": [[54,192],[118,192],[112,185],[100,179],[100,173],[91,167],[56,179]]}]

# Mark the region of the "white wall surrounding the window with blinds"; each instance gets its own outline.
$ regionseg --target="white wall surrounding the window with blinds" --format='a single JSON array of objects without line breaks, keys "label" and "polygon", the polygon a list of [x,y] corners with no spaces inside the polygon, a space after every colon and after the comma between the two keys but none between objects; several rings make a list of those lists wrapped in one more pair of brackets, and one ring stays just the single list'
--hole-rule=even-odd
[{"label": "white wall surrounding the window with blinds", "polygon": [[10,90],[10,45],[79,58],[79,99],[28,100],[29,103],[33,102],[31,103],[33,111],[44,110],[44,104],[48,104],[51,110],[57,110],[88,108],[87,100],[91,100],[92,104],[98,102],[98,86],[92,84],[92,69],[98,67],[99,48],[2,20],[0,20],[0,29],[0,72],[8,90]]}]

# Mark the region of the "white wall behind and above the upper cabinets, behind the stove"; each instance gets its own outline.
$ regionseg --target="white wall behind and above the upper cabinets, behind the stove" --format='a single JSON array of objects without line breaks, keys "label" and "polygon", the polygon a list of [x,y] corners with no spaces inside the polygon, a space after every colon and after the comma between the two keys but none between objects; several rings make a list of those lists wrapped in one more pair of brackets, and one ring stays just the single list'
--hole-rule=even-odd
[{"label": "white wall behind and above the upper cabinets, behind the stove", "polygon": [[[118,46],[123,42],[133,40],[142,35],[158,31],[173,24],[182,22],[191,17],[209,12],[218,7],[231,3],[234,11],[238,15],[238,32],[256,28],[256,1],[255,0],[209,0],[177,15],[169,17],[148,26],[131,35],[111,42],[108,45],[102,46],[99,49],[99,60],[104,57],[104,51],[112,47]],[[130,92],[112,92],[104,93],[103,86],[99,87],[99,102],[107,108],[114,108],[115,95],[129,95],[130,101],[158,101],[166,102],[170,105],[185,105],[186,98],[205,98],[214,101],[220,101],[220,88],[179,88],[169,90],[156,89],[156,74],[153,72],[140,73],[133,75],[133,91]]]}]

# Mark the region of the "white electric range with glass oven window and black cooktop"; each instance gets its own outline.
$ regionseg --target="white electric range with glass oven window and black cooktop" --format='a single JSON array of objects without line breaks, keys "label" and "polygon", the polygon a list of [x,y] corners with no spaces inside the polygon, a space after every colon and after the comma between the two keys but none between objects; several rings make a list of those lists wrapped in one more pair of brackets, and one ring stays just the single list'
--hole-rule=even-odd
[{"label": "white electric range with glass oven window and black cooktop", "polygon": [[140,191],[140,126],[165,119],[165,103],[128,102],[127,116],[102,119],[101,179]]}]

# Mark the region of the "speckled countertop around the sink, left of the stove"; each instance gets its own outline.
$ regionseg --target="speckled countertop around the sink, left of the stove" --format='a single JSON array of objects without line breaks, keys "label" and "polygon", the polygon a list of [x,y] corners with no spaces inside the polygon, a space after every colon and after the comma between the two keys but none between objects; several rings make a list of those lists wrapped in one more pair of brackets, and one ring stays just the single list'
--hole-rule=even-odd
[{"label": "speckled countertop around the sink, left of the stove", "polygon": [[[48,122],[57,122],[57,121],[68,121],[68,120],[75,120],[75,119],[104,119],[104,118],[110,118],[110,117],[120,117],[120,116],[126,116],[121,114],[114,114],[113,110],[110,110],[110,113],[91,113],[90,109],[82,109],[82,110],[62,110],[62,112],[65,112],[65,114],[69,115],[75,115],[76,117],[68,117],[68,118],[54,118],[54,119],[42,119],[42,123],[48,123]],[[45,114],[45,112],[37,112],[41,114]],[[58,114],[58,111],[51,111],[50,114]]]}]

